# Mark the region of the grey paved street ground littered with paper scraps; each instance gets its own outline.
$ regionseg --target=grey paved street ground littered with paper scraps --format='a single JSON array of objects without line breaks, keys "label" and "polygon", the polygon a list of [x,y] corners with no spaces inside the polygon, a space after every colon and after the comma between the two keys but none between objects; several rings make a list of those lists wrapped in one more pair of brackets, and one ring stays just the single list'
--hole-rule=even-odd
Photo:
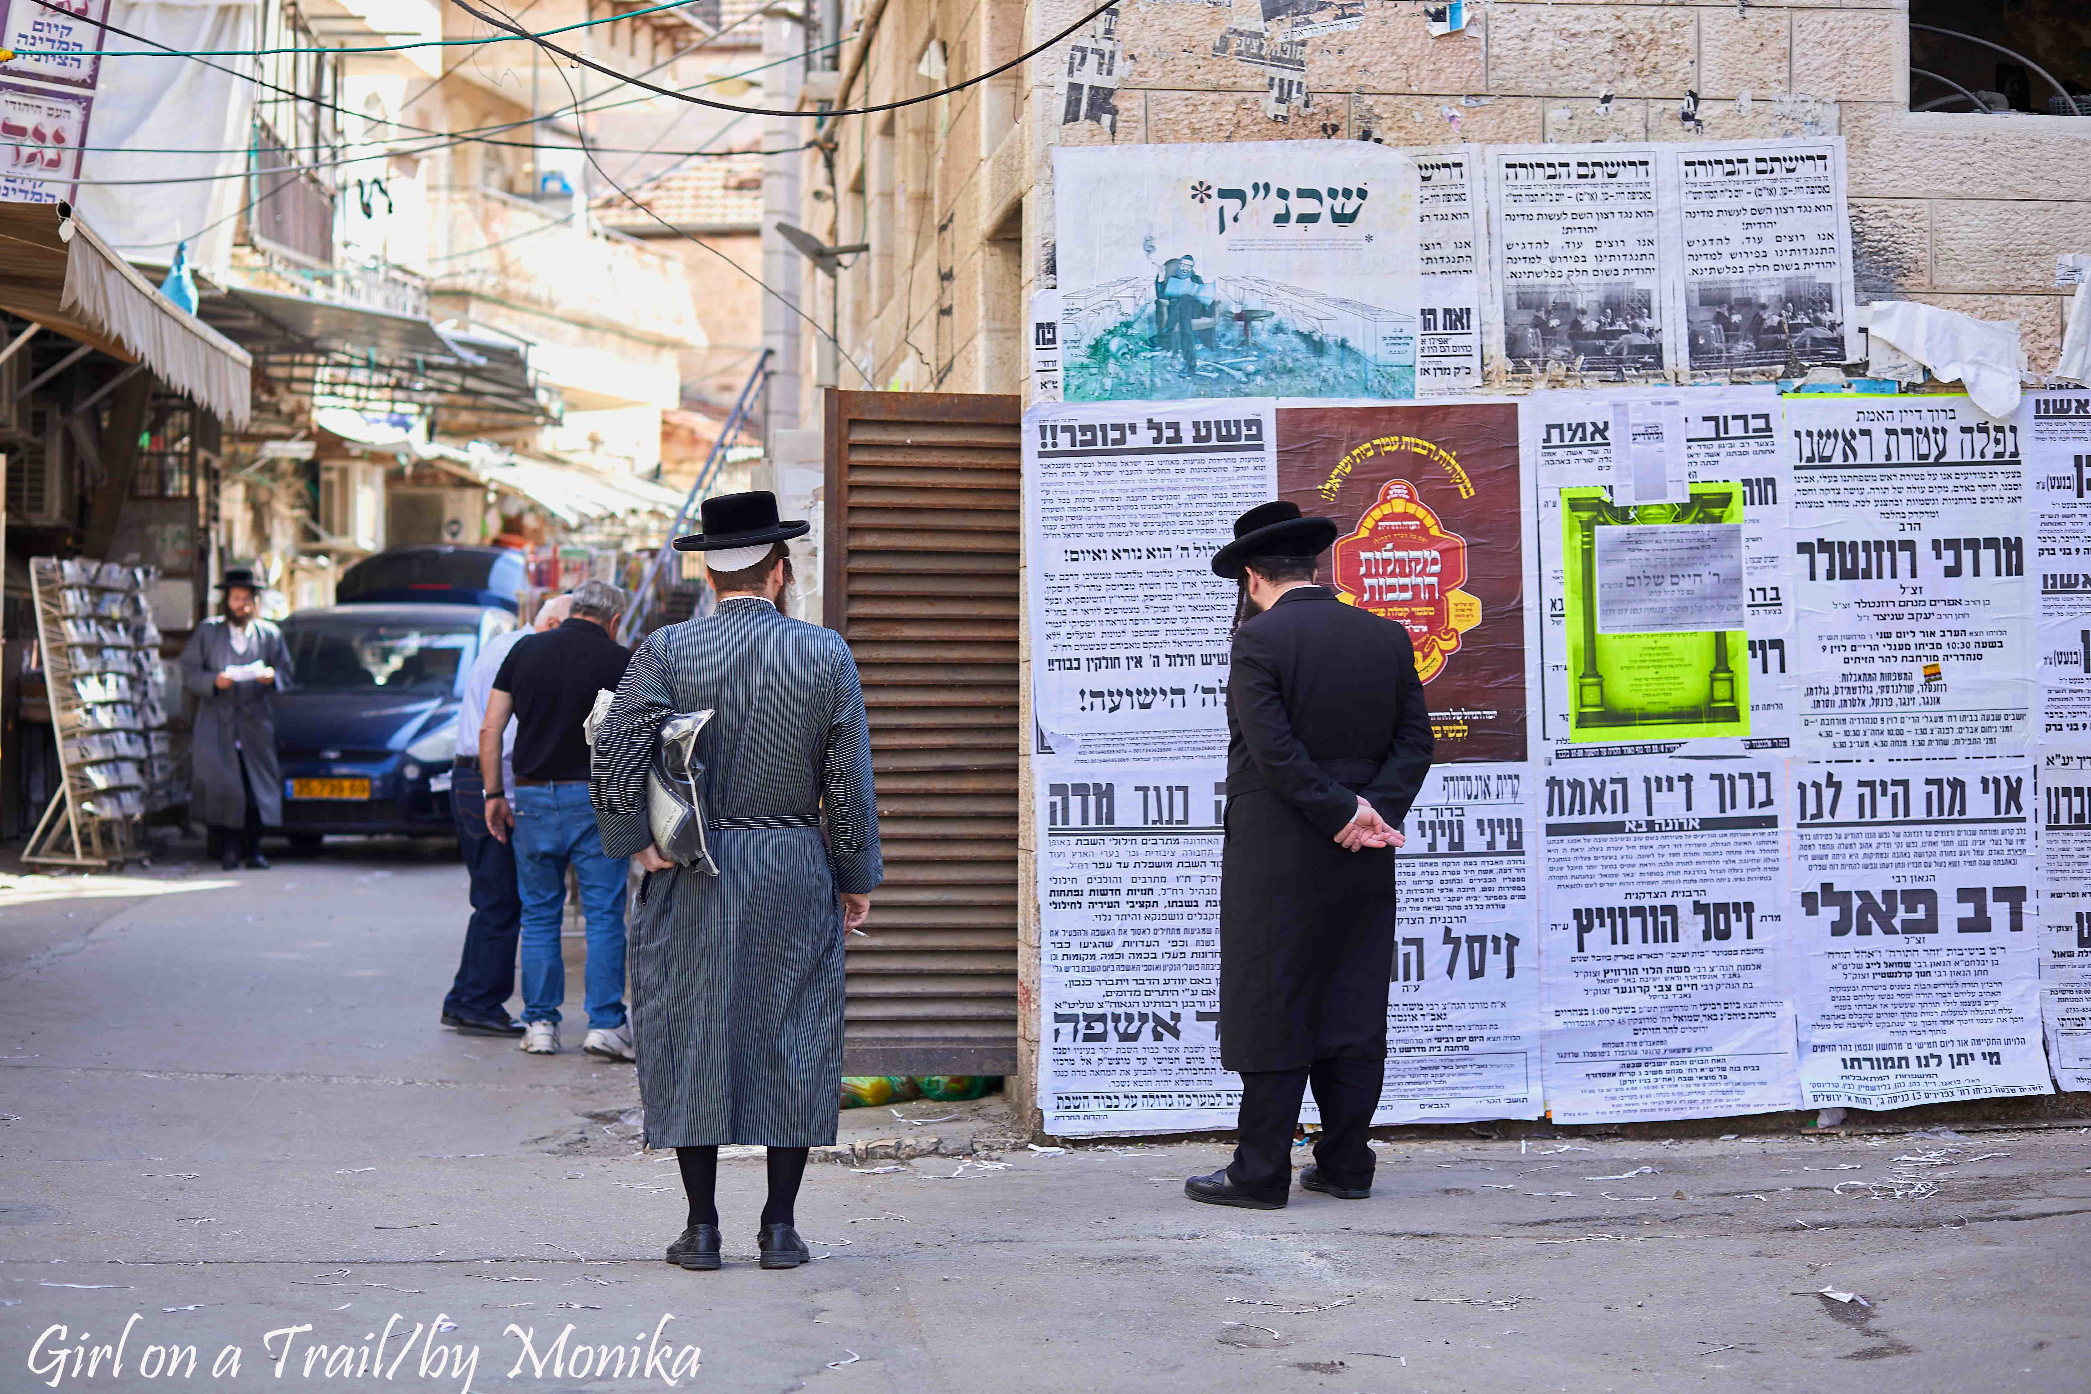
[{"label": "grey paved street ground littered with paper scraps", "polygon": [[851,1110],[820,1260],[755,1267],[751,1154],[728,1267],[684,1273],[629,1066],[437,1026],[462,917],[404,842],[0,878],[0,1390],[161,1388],[169,1346],[197,1390],[2091,1388],[2074,1126],[1445,1135],[1248,1212],[1184,1200],[1213,1143]]}]

